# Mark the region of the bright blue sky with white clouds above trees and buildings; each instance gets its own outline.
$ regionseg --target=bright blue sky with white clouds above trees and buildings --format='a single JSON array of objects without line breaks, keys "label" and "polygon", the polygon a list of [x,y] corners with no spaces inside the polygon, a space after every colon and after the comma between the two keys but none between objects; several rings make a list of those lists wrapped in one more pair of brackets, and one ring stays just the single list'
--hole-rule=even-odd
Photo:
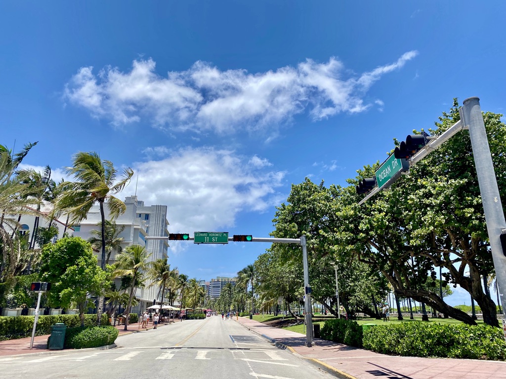
[{"label": "bright blue sky with white clouds above trees and buildings", "polygon": [[[132,167],[171,232],[268,236],[292,183],[346,185],[457,97],[504,112],[500,1],[0,4],[1,144],[50,165]],[[172,243],[190,277],[265,244]],[[460,294],[460,291],[458,292]],[[451,303],[469,304],[466,294]]]}]

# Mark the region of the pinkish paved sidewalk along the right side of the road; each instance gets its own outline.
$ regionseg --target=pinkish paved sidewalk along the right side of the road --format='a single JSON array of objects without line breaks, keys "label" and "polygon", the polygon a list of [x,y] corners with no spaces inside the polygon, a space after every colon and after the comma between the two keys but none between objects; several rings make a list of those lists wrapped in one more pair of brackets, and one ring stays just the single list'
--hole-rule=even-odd
[{"label": "pinkish paved sidewalk along the right side of the road", "polygon": [[343,379],[506,379],[506,362],[398,357],[374,353],[326,340],[314,339],[313,346],[305,346],[306,336],[293,331],[262,324],[248,317],[239,323],[275,343],[277,346],[310,360],[333,375]]}]

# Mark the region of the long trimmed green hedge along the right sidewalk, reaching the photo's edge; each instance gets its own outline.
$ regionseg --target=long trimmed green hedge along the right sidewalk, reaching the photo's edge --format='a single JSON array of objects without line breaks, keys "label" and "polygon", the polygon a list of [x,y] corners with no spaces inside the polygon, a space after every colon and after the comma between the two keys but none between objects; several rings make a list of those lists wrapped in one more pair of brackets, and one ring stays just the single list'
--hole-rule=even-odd
[{"label": "long trimmed green hedge along the right sidewalk, reaching the photo's edge", "polygon": [[500,329],[479,325],[409,322],[377,325],[364,331],[365,349],[412,357],[506,359]]}]

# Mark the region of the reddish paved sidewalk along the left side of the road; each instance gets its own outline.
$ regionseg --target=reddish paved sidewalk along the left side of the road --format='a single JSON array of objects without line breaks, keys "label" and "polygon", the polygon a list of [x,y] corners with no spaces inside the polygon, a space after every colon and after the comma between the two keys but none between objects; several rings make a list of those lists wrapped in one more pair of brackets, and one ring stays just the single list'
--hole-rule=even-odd
[{"label": "reddish paved sidewalk along the left side of the road", "polygon": [[[168,324],[168,323],[167,323]],[[161,323],[158,326],[163,326]],[[128,330],[124,330],[124,325],[115,325],[119,331],[119,336],[129,333],[137,333],[138,331],[148,330],[153,328],[153,323],[149,323],[149,327],[143,329],[140,327],[140,323],[136,322],[127,326]],[[49,335],[46,336],[35,336],[33,339],[33,347],[30,350],[31,337],[19,338],[17,340],[0,341],[0,357],[18,354],[33,354],[33,353],[44,353],[44,352],[58,352],[58,351],[69,351],[69,350],[49,350],[47,348]],[[72,350],[73,351],[73,350]]]}]

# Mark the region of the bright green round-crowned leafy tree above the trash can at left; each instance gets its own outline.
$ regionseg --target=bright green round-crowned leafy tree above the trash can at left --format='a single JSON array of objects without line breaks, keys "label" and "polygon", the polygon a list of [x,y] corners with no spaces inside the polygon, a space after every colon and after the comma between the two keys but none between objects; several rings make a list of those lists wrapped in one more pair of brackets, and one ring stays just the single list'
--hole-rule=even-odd
[{"label": "bright green round-crowned leafy tree above the trash can at left", "polygon": [[51,283],[48,301],[54,307],[76,304],[81,326],[90,294],[107,285],[107,274],[97,265],[91,245],[79,237],[67,237],[43,247],[39,275]]}]

